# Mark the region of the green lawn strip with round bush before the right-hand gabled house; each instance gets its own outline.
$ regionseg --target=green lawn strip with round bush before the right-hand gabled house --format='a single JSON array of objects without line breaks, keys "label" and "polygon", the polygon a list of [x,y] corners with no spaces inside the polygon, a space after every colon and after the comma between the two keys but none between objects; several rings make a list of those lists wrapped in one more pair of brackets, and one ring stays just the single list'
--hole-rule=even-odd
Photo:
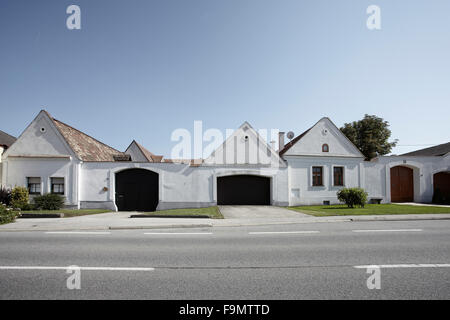
[{"label": "green lawn strip with round bush before the right-hand gabled house", "polygon": [[380,214],[450,213],[447,207],[411,206],[399,204],[367,204],[364,208],[350,209],[346,205],[288,207],[291,210],[316,217]]}]

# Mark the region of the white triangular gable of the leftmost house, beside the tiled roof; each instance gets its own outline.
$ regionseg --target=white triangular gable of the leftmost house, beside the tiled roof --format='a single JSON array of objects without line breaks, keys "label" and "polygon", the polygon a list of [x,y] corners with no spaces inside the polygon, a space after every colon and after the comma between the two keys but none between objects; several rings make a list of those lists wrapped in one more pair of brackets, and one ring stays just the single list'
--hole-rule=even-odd
[{"label": "white triangular gable of the leftmost house, beside the tiled roof", "polygon": [[5,152],[7,156],[73,156],[53,121],[40,112]]}]

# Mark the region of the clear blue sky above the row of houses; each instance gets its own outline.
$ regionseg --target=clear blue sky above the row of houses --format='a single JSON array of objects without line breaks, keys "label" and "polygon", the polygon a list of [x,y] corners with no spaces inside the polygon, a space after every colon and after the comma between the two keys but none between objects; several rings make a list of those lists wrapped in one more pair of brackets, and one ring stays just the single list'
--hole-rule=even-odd
[{"label": "clear blue sky above the row of houses", "polygon": [[[81,30],[66,28],[70,4]],[[2,0],[0,129],[18,136],[45,106],[169,157],[194,120],[299,134],[369,113],[390,122],[394,153],[448,142],[449,14],[448,0]]]}]

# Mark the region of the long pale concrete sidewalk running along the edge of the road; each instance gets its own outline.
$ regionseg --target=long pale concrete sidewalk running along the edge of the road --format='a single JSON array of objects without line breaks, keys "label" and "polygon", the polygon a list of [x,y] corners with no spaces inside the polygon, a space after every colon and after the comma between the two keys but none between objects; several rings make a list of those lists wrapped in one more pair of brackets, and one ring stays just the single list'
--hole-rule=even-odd
[{"label": "long pale concrete sidewalk running along the edge of the road", "polygon": [[207,228],[282,225],[318,222],[352,221],[408,221],[408,220],[450,220],[450,214],[408,214],[371,216],[329,216],[314,217],[296,215],[293,217],[270,218],[142,218],[130,219],[133,212],[109,212],[73,218],[17,219],[14,223],[0,226],[4,231],[69,231],[69,230],[126,230],[126,229],[166,229],[166,228]]}]

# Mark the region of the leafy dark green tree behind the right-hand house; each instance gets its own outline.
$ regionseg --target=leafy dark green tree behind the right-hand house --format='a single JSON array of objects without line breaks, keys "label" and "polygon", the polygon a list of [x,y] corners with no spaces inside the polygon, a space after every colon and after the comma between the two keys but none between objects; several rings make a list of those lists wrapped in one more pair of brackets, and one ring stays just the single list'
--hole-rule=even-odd
[{"label": "leafy dark green tree behind the right-hand house", "polygon": [[398,141],[388,142],[391,137],[389,123],[375,115],[366,114],[362,120],[345,123],[341,131],[367,160],[390,153]]}]

